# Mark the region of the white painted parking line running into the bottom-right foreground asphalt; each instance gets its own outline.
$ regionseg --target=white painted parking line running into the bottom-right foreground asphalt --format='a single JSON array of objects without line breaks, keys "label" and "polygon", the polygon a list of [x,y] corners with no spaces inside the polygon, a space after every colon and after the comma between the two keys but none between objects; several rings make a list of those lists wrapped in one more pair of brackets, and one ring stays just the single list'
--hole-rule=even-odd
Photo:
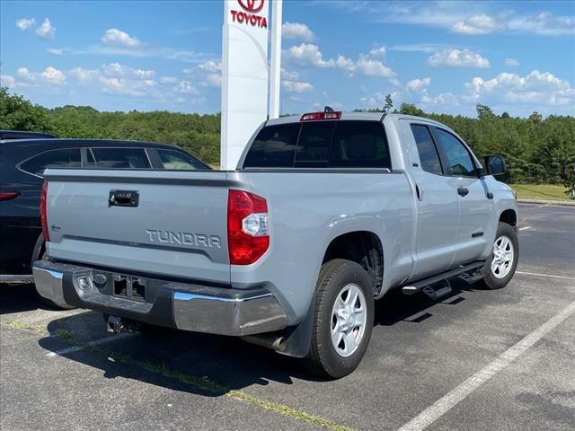
[{"label": "white painted parking line running into the bottom-right foreground asphalt", "polygon": [[438,418],[441,418],[450,409],[453,409],[458,403],[471,395],[473,391],[479,388],[483,383],[491,379],[493,375],[498,374],[503,368],[515,361],[517,357],[525,353],[528,348],[533,347],[537,341],[544,338],[545,335],[554,330],[574,312],[575,302],[568,305],[562,312],[555,314],[539,328],[517,342],[516,345],[509,347],[508,350],[503,352],[489,365],[473,374],[453,391],[450,391],[443,398],[423,410],[417,417],[411,419],[411,421],[401,427],[399,431],[419,431],[429,427],[429,425],[438,420]]}]

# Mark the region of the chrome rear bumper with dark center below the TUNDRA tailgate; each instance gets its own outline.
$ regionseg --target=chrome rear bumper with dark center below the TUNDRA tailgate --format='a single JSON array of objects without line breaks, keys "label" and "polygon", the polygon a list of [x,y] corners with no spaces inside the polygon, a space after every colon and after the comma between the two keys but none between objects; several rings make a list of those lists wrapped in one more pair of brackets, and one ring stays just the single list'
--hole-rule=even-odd
[{"label": "chrome rear bumper with dark center below the TUNDRA tailgate", "polygon": [[[53,303],[180,330],[244,336],[281,330],[288,323],[278,300],[263,288],[171,282],[50,260],[34,262],[33,273],[39,294]],[[129,295],[115,295],[115,277],[146,285],[146,298],[132,298],[132,281]]]}]

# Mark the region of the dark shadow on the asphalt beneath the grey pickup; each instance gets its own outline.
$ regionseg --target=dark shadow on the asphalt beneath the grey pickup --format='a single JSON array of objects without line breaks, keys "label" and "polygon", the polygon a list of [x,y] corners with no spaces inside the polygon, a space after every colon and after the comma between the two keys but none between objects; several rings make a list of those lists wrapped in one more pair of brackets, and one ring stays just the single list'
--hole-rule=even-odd
[{"label": "dark shadow on the asphalt beneath the grey pickup", "polygon": [[[457,295],[464,290],[472,289],[467,285],[454,286],[452,295],[443,298],[442,302],[454,298],[460,298],[454,303],[463,301]],[[410,298],[401,293],[391,293],[376,303],[375,325],[394,325],[418,312],[425,312],[433,303],[436,302],[424,295]],[[104,328],[102,314],[96,312],[57,319],[48,326],[50,335],[61,338],[62,333],[66,332],[70,334],[68,342],[80,346],[90,340],[107,337]],[[88,341],[85,340],[86,334]],[[65,356],[101,369],[106,378],[137,379],[175,391],[205,396],[221,396],[253,384],[293,384],[295,380],[322,382],[305,372],[300,360],[277,355],[267,348],[234,337],[168,329],[146,334],[134,333],[133,336],[117,340],[114,337],[110,336],[102,344],[68,352]],[[55,338],[40,339],[40,346],[50,351],[61,351],[62,343],[55,343]]]}]

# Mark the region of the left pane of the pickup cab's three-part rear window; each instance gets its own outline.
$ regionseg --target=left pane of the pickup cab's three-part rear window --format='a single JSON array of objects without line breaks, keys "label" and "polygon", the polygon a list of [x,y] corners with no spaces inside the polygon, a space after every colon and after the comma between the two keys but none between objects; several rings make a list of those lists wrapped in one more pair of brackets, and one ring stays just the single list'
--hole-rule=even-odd
[{"label": "left pane of the pickup cab's three-part rear window", "polygon": [[299,123],[262,128],[245,157],[244,168],[291,168],[296,155]]}]

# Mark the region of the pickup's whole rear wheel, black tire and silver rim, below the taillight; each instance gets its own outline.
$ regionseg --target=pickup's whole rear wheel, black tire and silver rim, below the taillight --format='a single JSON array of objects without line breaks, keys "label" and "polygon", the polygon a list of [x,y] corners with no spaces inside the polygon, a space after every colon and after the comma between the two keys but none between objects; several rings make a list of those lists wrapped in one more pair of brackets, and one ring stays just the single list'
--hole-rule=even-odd
[{"label": "pickup's whole rear wheel, black tire and silver rim, below the taillight", "polygon": [[328,378],[353,372],[367,350],[374,324],[373,280],[358,263],[333,259],[316,286],[308,369]]}]

